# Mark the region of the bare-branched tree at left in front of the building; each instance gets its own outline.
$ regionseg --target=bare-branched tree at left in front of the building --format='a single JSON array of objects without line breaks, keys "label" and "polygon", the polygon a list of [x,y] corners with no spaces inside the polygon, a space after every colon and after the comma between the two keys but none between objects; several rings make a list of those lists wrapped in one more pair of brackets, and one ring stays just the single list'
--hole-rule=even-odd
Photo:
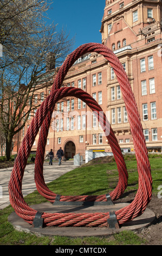
[{"label": "bare-branched tree at left in front of the building", "polygon": [[51,86],[56,68],[73,45],[63,29],[57,32],[53,23],[46,22],[49,4],[43,0],[0,0],[0,122],[8,160],[13,137],[38,106],[35,95]]}]

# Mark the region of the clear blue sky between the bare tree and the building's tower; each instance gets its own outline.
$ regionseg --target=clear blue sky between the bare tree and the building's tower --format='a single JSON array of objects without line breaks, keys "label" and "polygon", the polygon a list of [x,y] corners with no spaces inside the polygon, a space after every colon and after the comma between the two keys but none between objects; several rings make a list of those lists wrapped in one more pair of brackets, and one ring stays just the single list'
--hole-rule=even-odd
[{"label": "clear blue sky between the bare tree and the building's tower", "polygon": [[75,36],[73,50],[88,42],[101,43],[101,20],[105,0],[54,0],[48,11],[57,29],[65,28],[70,38]]}]

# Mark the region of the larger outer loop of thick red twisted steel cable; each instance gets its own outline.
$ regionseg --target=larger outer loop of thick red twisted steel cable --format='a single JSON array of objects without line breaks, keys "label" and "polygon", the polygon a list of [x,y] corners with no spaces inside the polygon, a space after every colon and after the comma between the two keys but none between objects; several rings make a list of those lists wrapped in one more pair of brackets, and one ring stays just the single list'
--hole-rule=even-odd
[{"label": "larger outer loop of thick red twisted steel cable", "polygon": [[[133,202],[128,206],[126,206],[125,208],[122,208],[121,210],[118,210],[115,212],[116,219],[118,220],[119,224],[123,224],[127,221],[133,220],[135,217],[138,217],[139,215],[141,215],[145,211],[147,204],[151,200],[152,177],[151,177],[150,162],[148,161],[148,153],[147,153],[147,148],[145,143],[145,137],[142,131],[142,125],[140,122],[138,108],[134,99],[131,84],[129,83],[126,72],[124,71],[121,63],[119,62],[119,59],[115,56],[115,54],[104,45],[90,43],[90,44],[82,45],[79,48],[77,48],[73,53],[71,53],[68,56],[68,58],[63,63],[62,67],[60,68],[55,78],[53,88],[51,89],[51,94],[46,99],[46,101],[42,103],[42,105],[36,112],[35,118],[31,122],[31,125],[27,131],[27,135],[25,136],[22,142],[21,148],[18,151],[14,168],[12,169],[11,178],[9,182],[10,202],[12,207],[15,209],[17,215],[21,216],[25,221],[27,221],[30,224],[33,223],[33,220],[37,211],[34,209],[31,209],[28,206],[28,204],[25,203],[22,195],[22,190],[21,190],[23,173],[24,173],[25,166],[27,164],[27,159],[30,153],[30,149],[34,143],[34,139],[41,125],[42,125],[41,126],[42,135],[44,135],[45,137],[47,136],[47,129],[50,124],[51,113],[52,113],[50,111],[50,106],[52,106],[54,102],[53,101],[54,97],[56,97],[57,94],[61,94],[65,92],[63,89],[62,90],[57,90],[57,89],[61,87],[61,84],[63,82],[64,77],[67,74],[67,71],[73,65],[75,60],[87,52],[97,52],[102,54],[114,69],[115,75],[120,84],[120,89],[121,89],[123,99],[125,101],[128,120],[130,123],[133,142],[134,142],[135,156],[137,158],[139,188]],[[70,88],[70,89],[74,89],[74,88]],[[76,93],[78,92],[76,91]],[[80,98],[81,95],[79,95],[78,97]],[[82,100],[84,101],[85,98]],[[94,106],[94,109],[95,108],[96,108],[96,105]],[[104,120],[104,117],[103,117],[103,120]],[[112,133],[113,131],[110,126],[110,134]],[[111,141],[110,137],[109,137],[109,141]],[[36,155],[37,162],[42,161],[42,156],[44,157],[43,155],[43,151],[44,151],[43,147],[45,147],[44,143],[45,141],[42,143],[41,141],[39,141],[39,148],[37,149],[37,152],[40,150],[41,153],[40,155],[38,153]],[[110,144],[114,145],[114,148],[112,148],[112,150],[114,153],[116,153],[116,155],[114,156],[115,156],[115,161],[118,164],[118,161],[119,161],[118,149],[117,149],[118,146],[116,147],[116,144],[115,143],[113,144],[112,141]],[[40,169],[38,169],[37,175],[41,177],[42,184],[44,184],[44,179],[42,176],[43,174],[42,163],[40,164],[40,166],[41,167]],[[120,163],[119,163],[119,166],[120,166]],[[125,169],[121,176],[124,176],[124,173],[125,173]],[[119,170],[118,185],[121,182],[120,181],[121,176],[120,176],[120,170]],[[36,180],[37,180],[37,177],[36,177]],[[37,186],[39,189],[40,185],[38,184],[38,182],[37,182]],[[46,193],[47,193],[46,185],[41,192],[44,193],[44,195],[46,196]],[[51,192],[48,191],[48,193],[51,193]],[[122,192],[120,191],[119,194],[121,193]],[[53,196],[54,194],[51,193],[51,197]],[[116,195],[114,196],[114,198],[116,198]],[[57,225],[59,227],[64,227],[64,226],[70,225],[74,227],[81,227],[81,226],[95,227],[98,225],[101,225],[101,226],[107,225],[109,212],[95,213],[95,214],[87,214],[87,213],[85,214],[61,214],[61,213],[48,214],[43,212],[42,218],[44,220],[44,225],[47,225],[47,226]]]}]

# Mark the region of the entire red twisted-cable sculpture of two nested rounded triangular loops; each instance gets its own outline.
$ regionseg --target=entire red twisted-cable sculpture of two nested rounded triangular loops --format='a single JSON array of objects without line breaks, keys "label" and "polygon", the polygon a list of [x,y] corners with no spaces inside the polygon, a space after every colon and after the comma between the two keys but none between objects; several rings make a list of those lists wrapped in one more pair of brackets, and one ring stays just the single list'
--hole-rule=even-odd
[{"label": "entire red twisted-cable sculpture of two nested rounded triangular loops", "polygon": [[[71,53],[68,58],[64,61],[61,66],[53,87],[51,89],[50,95],[47,99],[41,104],[40,108],[37,109],[36,115],[31,121],[31,125],[27,131],[27,135],[24,137],[20,150],[12,169],[11,178],[9,182],[9,194],[10,194],[10,203],[15,209],[15,212],[18,216],[22,217],[23,220],[32,224],[37,214],[37,211],[30,208],[30,206],[25,203],[25,200],[22,195],[22,179],[24,174],[24,169],[27,164],[28,156],[30,154],[31,147],[34,143],[35,137],[38,133],[39,128],[41,127],[40,138],[38,140],[38,148],[36,154],[36,163],[35,163],[35,182],[38,192],[42,194],[50,202],[54,202],[56,194],[51,192],[47,185],[44,182],[43,178],[43,159],[44,159],[44,150],[46,146],[47,132],[50,125],[51,114],[54,109],[55,103],[62,99],[64,96],[76,96],[79,99],[85,101],[87,105],[95,111],[96,113],[102,113],[101,126],[104,131],[109,129],[109,135],[107,136],[108,142],[111,145],[116,164],[118,166],[119,172],[119,182],[115,190],[110,193],[111,199],[118,199],[121,194],[124,192],[127,186],[127,170],[124,162],[124,158],[121,154],[121,150],[116,140],[113,130],[110,125],[107,125],[108,121],[105,114],[102,112],[101,107],[98,103],[87,93],[83,92],[81,89],[76,89],[73,87],[62,88],[61,84],[64,77],[66,76],[69,68],[74,64],[80,56],[87,52],[97,52],[102,54],[108,62],[111,64],[114,69],[115,75],[120,84],[121,93],[125,101],[125,106],[127,109],[128,119],[131,126],[131,132],[133,136],[135,156],[137,158],[137,167],[139,174],[139,188],[137,194],[131,204],[117,210],[115,212],[116,220],[119,225],[133,220],[135,217],[140,216],[146,209],[147,204],[151,200],[152,196],[152,177],[151,177],[151,167],[148,160],[148,153],[145,143],[144,133],[142,131],[142,125],[140,122],[140,117],[138,113],[137,104],[134,99],[132,92],[131,84],[128,81],[126,72],[124,71],[119,59],[115,54],[109,50],[106,46],[101,44],[85,44],[77,48],[73,53]],[[99,115],[98,115],[99,117]],[[101,119],[100,119],[101,120]],[[106,197],[103,196],[61,196],[60,200],[62,201],[105,201]],[[82,213],[82,214],[62,214],[62,213],[46,213],[43,212],[42,218],[45,226],[59,226],[59,227],[95,227],[95,226],[106,226],[107,219],[110,217],[109,212],[105,213]]]}]

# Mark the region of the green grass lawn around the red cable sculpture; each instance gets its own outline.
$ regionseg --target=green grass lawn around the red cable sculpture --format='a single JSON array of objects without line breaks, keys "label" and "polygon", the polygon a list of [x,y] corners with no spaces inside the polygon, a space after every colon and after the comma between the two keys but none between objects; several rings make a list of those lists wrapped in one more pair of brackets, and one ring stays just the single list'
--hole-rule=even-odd
[{"label": "green grass lawn around the red cable sculpture", "polygon": [[[158,193],[158,186],[162,185],[162,158],[150,157],[153,193]],[[128,170],[128,187],[125,192],[138,190],[137,161],[126,158]],[[55,193],[64,196],[72,195],[100,195],[112,191],[118,183],[116,163],[88,165],[76,168],[60,178],[50,182],[48,187]],[[25,197],[29,205],[46,202],[37,191]],[[69,238],[61,236],[37,237],[36,235],[16,231],[8,222],[8,216],[14,211],[11,206],[0,211],[0,245],[141,245],[145,244],[133,231],[123,231],[109,237]]]}]

